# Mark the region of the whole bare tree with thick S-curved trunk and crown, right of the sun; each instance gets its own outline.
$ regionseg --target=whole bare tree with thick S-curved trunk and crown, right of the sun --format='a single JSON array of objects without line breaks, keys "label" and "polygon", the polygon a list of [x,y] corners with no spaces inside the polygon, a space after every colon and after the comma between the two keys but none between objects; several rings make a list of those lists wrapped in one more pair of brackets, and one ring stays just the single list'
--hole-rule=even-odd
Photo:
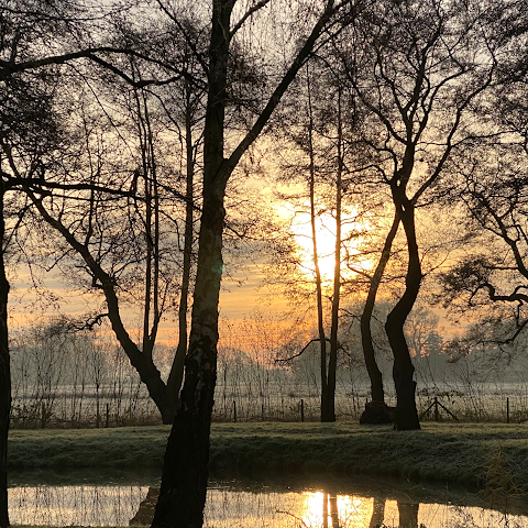
[{"label": "whole bare tree with thick S-curved trunk and crown, right of the sun", "polygon": [[482,133],[471,121],[472,106],[494,80],[494,54],[483,30],[491,8],[479,4],[470,12],[464,6],[375,4],[354,26],[355,53],[342,52],[349,82],[370,111],[373,134],[365,141],[395,209],[381,272],[398,223],[407,243],[405,290],[385,327],[395,359],[397,429],[419,428],[404,333],[422,279],[415,211],[457,147]]}]

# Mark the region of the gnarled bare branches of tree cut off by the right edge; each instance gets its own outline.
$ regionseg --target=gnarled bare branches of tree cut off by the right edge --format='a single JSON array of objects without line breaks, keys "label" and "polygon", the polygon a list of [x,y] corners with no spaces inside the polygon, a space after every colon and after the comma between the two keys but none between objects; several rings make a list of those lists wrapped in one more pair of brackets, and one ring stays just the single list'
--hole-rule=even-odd
[{"label": "gnarled bare branches of tree cut off by the right edge", "polygon": [[[484,109],[504,138],[468,144],[454,163],[459,178],[441,200],[462,202],[465,251],[440,277],[440,299],[455,312],[477,314],[494,337],[487,344],[513,343],[524,331],[528,278],[527,186],[528,156],[528,20],[526,12],[506,20],[508,31],[493,37],[506,41],[509,53],[496,55],[498,82]],[[497,311],[497,314],[494,314]],[[505,318],[505,314],[510,316]],[[505,318],[505,319],[504,319]],[[495,324],[495,322],[499,324]],[[485,326],[485,322],[484,324]],[[506,332],[506,333],[505,333]],[[475,341],[474,329],[470,330]],[[493,332],[492,332],[493,333]]]}]

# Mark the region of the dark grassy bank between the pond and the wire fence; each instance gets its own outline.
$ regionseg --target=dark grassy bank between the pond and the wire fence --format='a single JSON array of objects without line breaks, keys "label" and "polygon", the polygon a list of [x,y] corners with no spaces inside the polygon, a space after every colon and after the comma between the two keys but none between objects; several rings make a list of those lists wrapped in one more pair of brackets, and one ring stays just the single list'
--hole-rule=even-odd
[{"label": "dark grassy bank between the pond and the wire fence", "polygon": [[[161,468],[169,428],[14,430],[8,464],[30,469]],[[356,424],[215,424],[211,472],[235,476],[359,473],[528,492],[528,426],[425,424],[420,431]]]}]

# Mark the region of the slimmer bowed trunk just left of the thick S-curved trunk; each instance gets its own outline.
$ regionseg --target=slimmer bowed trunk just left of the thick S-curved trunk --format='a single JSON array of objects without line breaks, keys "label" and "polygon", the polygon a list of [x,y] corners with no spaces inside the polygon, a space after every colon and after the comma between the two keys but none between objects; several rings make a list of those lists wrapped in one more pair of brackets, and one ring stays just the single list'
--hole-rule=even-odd
[{"label": "slimmer bowed trunk just left of the thick S-curved trunk", "polygon": [[376,295],[382,282],[385,267],[387,266],[388,258],[391,257],[391,249],[393,246],[394,239],[398,232],[399,217],[395,215],[391,230],[385,239],[383,245],[382,255],[377,262],[376,270],[371,279],[369,287],[369,294],[366,296],[363,314],[361,315],[360,328],[361,328],[361,344],[363,348],[363,356],[365,358],[366,371],[369,378],[371,380],[371,397],[373,402],[384,404],[385,392],[383,388],[383,376],[380,367],[377,366],[376,355],[374,352],[374,343],[372,341],[372,314],[374,311],[374,305],[376,302]]}]

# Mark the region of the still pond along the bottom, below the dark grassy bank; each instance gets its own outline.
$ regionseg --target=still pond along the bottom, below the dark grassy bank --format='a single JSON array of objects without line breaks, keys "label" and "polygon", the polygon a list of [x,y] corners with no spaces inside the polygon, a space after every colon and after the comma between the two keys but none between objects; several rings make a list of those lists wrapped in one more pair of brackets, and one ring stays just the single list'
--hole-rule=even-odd
[{"label": "still pond along the bottom, below the dark grassy bank", "polygon": [[[332,481],[211,480],[209,528],[527,528],[528,504],[508,514],[477,494],[387,479]],[[16,473],[10,477],[13,525],[148,525],[160,490],[151,473]]]}]

